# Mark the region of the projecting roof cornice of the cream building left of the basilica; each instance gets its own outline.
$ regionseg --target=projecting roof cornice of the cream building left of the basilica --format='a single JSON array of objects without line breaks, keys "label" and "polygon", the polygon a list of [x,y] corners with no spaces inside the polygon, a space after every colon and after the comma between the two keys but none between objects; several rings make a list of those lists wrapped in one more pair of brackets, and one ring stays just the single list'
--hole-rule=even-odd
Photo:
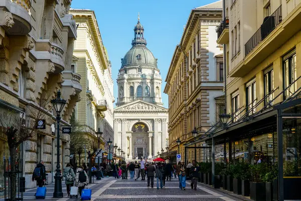
[{"label": "projecting roof cornice of the cream building left of the basilica", "polygon": [[95,46],[97,47],[97,51],[100,56],[101,63],[103,65],[104,69],[107,69],[108,68],[108,56],[107,56],[105,47],[103,46],[103,43],[102,43],[102,39],[101,39],[101,35],[100,35],[100,31],[98,28],[98,23],[97,23],[94,11],[71,9],[69,11],[69,13],[73,15],[74,20],[76,22],[78,22],[79,20],[88,18],[88,22],[89,22],[88,29],[91,31],[91,34],[95,41]]}]

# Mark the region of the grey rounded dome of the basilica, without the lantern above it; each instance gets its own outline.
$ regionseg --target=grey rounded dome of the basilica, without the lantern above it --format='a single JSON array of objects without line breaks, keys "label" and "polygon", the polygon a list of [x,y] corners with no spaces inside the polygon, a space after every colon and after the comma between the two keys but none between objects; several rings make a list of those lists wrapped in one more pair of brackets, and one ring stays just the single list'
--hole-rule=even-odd
[{"label": "grey rounded dome of the basilica, without the lantern above it", "polygon": [[121,68],[127,66],[157,68],[157,60],[145,45],[133,46],[122,59]]}]

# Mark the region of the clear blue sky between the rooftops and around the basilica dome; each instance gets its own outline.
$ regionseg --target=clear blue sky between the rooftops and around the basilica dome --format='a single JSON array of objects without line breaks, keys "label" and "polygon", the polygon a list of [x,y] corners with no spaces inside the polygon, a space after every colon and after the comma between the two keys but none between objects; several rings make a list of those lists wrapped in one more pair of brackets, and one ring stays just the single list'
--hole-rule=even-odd
[{"label": "clear blue sky between the rooftops and around the basilica dome", "polygon": [[[217,0],[73,0],[74,9],[94,10],[101,37],[112,63],[114,96],[117,97],[116,77],[121,58],[131,48],[133,28],[140,13],[147,48],[158,58],[161,70],[162,97],[168,108],[168,95],[163,93],[171,59],[179,44],[190,11]],[[117,100],[117,99],[116,99]]]}]

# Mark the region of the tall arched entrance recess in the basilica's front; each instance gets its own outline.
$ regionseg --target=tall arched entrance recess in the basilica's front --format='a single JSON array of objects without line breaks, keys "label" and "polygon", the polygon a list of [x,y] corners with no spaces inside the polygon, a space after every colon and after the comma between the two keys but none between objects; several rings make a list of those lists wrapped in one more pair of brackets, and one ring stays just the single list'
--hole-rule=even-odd
[{"label": "tall arched entrance recess in the basilica's front", "polygon": [[142,123],[137,122],[132,126],[132,140],[133,140],[133,158],[139,159],[148,156],[148,127]]}]

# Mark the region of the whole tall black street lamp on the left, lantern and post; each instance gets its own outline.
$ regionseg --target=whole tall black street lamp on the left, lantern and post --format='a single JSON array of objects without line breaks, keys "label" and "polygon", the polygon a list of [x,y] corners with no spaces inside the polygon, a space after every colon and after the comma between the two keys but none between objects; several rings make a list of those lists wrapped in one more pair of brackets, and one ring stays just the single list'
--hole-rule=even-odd
[{"label": "whole tall black street lamp on the left, lantern and post", "polygon": [[62,175],[61,175],[61,169],[60,169],[60,120],[61,120],[61,112],[66,104],[66,100],[61,98],[61,91],[57,91],[57,97],[55,99],[51,100],[51,104],[53,105],[53,108],[57,114],[56,120],[57,120],[57,169],[54,176],[55,182],[54,182],[54,192],[53,197],[54,198],[60,198],[63,197],[63,191],[62,191]]}]

